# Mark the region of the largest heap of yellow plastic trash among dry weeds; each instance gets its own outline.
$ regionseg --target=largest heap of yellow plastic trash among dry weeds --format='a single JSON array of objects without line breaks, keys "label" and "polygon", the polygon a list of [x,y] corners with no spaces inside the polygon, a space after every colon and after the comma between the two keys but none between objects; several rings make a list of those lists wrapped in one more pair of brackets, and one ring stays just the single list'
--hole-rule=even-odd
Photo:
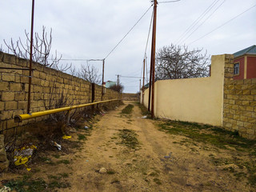
[{"label": "largest heap of yellow plastic trash among dry weeds", "polygon": [[14,150],[14,165],[20,166],[25,164],[31,158],[33,151],[37,149],[37,146],[23,146],[20,149]]}]

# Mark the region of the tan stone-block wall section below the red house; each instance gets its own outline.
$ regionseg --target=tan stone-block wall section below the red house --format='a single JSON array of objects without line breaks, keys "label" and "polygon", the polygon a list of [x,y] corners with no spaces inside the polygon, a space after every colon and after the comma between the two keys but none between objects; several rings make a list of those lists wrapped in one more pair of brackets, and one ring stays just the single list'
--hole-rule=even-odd
[{"label": "tan stone-block wall section below the red house", "polygon": [[223,126],[242,137],[256,138],[256,78],[234,80],[233,55],[226,55]]}]

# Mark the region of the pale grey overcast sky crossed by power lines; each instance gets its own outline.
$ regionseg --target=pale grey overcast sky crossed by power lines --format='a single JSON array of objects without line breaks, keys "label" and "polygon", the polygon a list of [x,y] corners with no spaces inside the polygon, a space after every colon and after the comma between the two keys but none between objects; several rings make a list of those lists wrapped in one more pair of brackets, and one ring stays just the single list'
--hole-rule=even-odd
[{"label": "pale grey overcast sky crossed by power lines", "polygon": [[[166,2],[162,0],[158,2]],[[0,45],[3,39],[24,39],[24,30],[30,32],[31,0],[0,0]],[[188,38],[178,38],[204,11],[214,3]],[[34,31],[42,26],[53,30],[53,50],[62,58],[106,58],[110,50],[150,8],[150,0],[35,0]],[[171,43],[204,48],[210,55],[233,54],[256,44],[256,0],[181,0],[159,3],[157,18],[157,50]],[[248,10],[250,7],[252,9]],[[245,10],[246,13],[242,14]],[[116,81],[116,74],[140,77],[146,39],[150,27],[152,7],[134,30],[106,58],[105,80]],[[235,18],[242,14],[238,18]],[[208,18],[208,19],[206,19]],[[231,22],[230,19],[235,18]],[[228,22],[226,25],[222,24]],[[218,26],[222,26],[215,30]],[[213,33],[208,34],[210,31]],[[206,37],[202,38],[205,34]],[[187,37],[187,36],[186,36]],[[198,38],[200,38],[198,41]],[[195,41],[195,42],[194,42]],[[150,63],[150,42],[147,51]],[[77,68],[86,62],[74,62]],[[90,62],[102,71],[102,62]],[[124,92],[139,89],[138,78],[122,78]]]}]

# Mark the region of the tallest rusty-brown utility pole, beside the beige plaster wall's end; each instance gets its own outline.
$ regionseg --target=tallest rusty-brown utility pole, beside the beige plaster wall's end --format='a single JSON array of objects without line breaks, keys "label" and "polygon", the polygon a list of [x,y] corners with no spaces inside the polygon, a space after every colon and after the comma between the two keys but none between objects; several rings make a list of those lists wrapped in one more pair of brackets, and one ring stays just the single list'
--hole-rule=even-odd
[{"label": "tallest rusty-brown utility pole, beside the beige plaster wall's end", "polygon": [[[151,47],[151,60],[150,60],[150,80],[152,83],[151,118],[154,118],[154,66],[155,66],[155,41],[156,41],[156,28],[157,28],[156,27],[157,26],[157,6],[158,6],[158,1],[154,0],[154,20],[153,20],[152,47]],[[149,109],[150,109],[150,94],[149,94]]]}]

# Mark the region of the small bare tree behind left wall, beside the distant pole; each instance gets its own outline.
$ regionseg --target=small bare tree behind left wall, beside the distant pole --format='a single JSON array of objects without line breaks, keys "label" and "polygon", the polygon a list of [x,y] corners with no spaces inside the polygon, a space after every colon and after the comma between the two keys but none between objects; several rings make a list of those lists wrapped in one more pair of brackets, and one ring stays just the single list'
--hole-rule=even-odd
[{"label": "small bare tree behind left wall, beside the distant pole", "polygon": [[87,82],[101,84],[102,75],[98,73],[98,69],[95,66],[90,65],[88,62],[86,65],[81,64],[79,71],[71,70],[71,73],[78,78],[85,79]]}]

